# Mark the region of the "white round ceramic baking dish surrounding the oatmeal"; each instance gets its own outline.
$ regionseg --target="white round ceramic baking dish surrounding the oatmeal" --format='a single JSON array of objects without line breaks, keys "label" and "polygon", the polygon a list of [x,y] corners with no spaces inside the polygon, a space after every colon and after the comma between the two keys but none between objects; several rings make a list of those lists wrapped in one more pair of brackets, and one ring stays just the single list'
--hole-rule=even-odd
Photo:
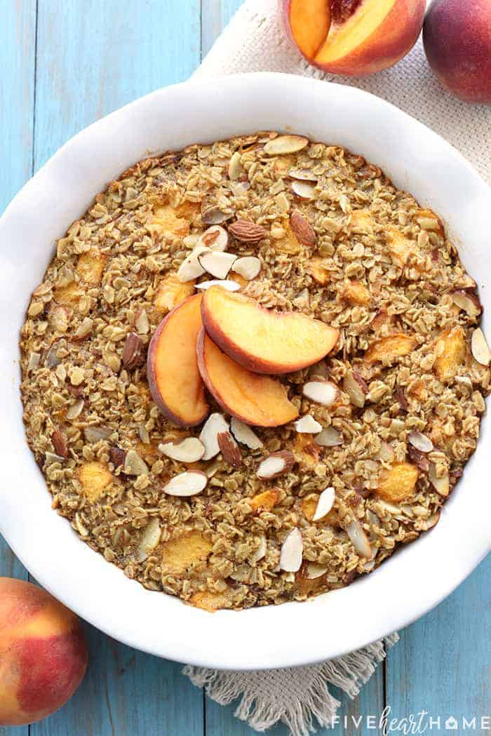
[{"label": "white round ceramic baking dish surrounding the oatmeal", "polygon": [[370,576],[304,603],[214,614],[186,606],[126,578],[52,511],[24,439],[18,333],[55,239],[113,177],[148,152],[265,129],[361,153],[398,188],[434,208],[478,279],[487,314],[490,188],[452,146],[396,107],[303,77],[186,82],[139,99],[63,146],[0,220],[0,531],[40,584],[110,636],[160,657],[222,669],[305,665],[366,645],[442,601],[491,548],[487,420],[438,526]]}]

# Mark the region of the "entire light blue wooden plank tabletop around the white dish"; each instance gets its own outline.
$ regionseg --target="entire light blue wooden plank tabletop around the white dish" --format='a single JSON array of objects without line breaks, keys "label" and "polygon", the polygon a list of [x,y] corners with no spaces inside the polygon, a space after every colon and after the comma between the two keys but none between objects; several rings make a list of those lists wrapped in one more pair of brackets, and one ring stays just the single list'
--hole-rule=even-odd
[{"label": "entire light blue wooden plank tabletop around the white dish", "polygon": [[[189,77],[241,0],[0,0],[0,211],[71,135],[155,88]],[[478,509],[476,509],[478,513]],[[456,545],[459,545],[456,539]],[[27,578],[0,539],[0,576]],[[491,559],[402,632],[336,735],[380,734],[367,716],[491,710]],[[418,595],[414,590],[414,595]],[[362,615],[362,612],[361,612]],[[207,701],[180,665],[88,627],[90,666],[60,712],[1,736],[244,736],[233,707]],[[358,715],[363,716],[358,725]],[[351,718],[353,716],[353,718]],[[481,730],[476,722],[478,732]],[[429,731],[429,728],[428,728]],[[286,736],[286,729],[275,729]],[[453,731],[453,733],[456,733]],[[460,733],[460,730],[459,730]]]}]

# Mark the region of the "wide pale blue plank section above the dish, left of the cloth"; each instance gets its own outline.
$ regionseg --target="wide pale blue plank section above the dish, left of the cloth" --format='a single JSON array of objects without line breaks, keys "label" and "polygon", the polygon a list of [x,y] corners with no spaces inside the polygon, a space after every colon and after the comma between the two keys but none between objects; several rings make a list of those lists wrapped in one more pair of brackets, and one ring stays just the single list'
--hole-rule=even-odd
[{"label": "wide pale blue plank section above the dish, left of the cloth", "polygon": [[40,0],[35,163],[199,63],[199,0]]}]

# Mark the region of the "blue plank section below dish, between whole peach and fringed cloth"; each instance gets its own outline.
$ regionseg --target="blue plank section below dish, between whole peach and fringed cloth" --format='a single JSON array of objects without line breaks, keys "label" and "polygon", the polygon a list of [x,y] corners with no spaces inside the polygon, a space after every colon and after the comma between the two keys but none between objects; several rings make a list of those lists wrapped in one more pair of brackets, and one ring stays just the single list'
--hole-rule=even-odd
[{"label": "blue plank section below dish, between whole peach and fringed cloth", "polygon": [[31,726],[32,736],[202,736],[202,693],[180,673],[182,665],[92,627],[88,641],[85,680],[62,710]]}]

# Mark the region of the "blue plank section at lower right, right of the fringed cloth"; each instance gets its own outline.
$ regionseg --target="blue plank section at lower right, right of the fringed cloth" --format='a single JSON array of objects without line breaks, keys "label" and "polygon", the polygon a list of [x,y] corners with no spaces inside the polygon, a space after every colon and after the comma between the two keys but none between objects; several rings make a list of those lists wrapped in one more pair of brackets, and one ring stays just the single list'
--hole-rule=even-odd
[{"label": "blue plank section at lower right, right of the fringed cloth", "polygon": [[[459,730],[453,733],[461,733],[464,716],[489,717],[490,578],[491,556],[446,601],[402,632],[387,668],[387,699],[394,718],[424,709],[442,718],[442,731],[446,718],[457,718]],[[480,726],[476,730],[481,732]],[[488,721],[482,732],[490,731]]]}]

